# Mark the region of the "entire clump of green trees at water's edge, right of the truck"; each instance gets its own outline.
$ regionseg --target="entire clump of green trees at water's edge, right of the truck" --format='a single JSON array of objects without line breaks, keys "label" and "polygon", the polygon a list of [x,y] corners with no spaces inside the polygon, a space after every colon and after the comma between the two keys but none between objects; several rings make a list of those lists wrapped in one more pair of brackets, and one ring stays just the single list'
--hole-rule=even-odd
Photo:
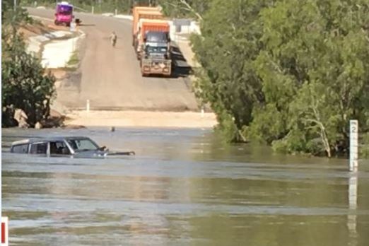
[{"label": "entire clump of green trees at water's edge, right of the truck", "polygon": [[212,0],[202,18],[195,90],[225,139],[330,157],[358,119],[368,141],[368,1]]}]

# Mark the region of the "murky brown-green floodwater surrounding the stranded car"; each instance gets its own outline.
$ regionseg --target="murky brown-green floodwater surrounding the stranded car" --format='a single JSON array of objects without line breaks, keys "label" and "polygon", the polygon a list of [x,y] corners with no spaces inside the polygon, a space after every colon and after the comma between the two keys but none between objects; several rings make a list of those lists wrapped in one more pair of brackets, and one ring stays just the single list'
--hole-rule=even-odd
[{"label": "murky brown-green floodwater surrounding the stranded car", "polygon": [[[6,152],[29,136],[84,135],[136,156]],[[225,145],[201,129],[3,129],[11,245],[368,245],[369,163]]]}]

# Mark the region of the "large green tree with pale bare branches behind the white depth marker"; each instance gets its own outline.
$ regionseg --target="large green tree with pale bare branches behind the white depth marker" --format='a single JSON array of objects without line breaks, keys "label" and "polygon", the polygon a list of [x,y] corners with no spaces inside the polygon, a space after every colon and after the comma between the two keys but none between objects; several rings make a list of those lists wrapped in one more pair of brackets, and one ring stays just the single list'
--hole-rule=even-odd
[{"label": "large green tree with pale bare branches behind the white depth marker", "polygon": [[[348,121],[367,129],[369,105],[369,5],[367,1],[278,2],[262,11],[264,49],[255,60],[266,107],[281,115],[275,148],[326,153],[348,146]],[[365,24],[366,23],[366,24]],[[254,111],[251,132],[259,134]]]}]

